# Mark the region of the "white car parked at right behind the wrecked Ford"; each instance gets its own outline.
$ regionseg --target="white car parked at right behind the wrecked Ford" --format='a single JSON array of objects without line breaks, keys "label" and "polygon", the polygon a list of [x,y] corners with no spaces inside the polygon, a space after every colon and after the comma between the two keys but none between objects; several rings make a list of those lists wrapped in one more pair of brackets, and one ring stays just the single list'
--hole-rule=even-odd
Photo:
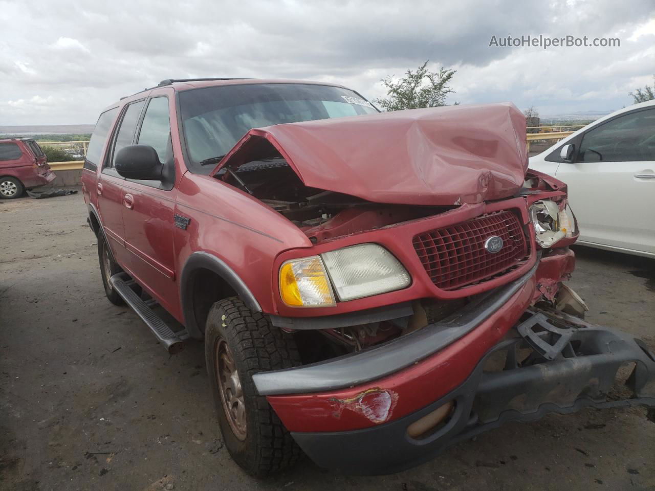
[{"label": "white car parked at right behind the wrecked Ford", "polygon": [[529,165],[568,185],[578,244],[655,258],[655,100],[594,121]]}]

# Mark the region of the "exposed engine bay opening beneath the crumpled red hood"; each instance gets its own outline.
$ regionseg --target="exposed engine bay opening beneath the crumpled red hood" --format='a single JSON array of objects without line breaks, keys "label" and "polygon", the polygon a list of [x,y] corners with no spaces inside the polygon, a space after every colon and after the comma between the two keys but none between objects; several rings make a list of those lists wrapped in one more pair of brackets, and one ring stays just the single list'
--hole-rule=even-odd
[{"label": "exposed engine bay opening beneath the crumpled red hood", "polygon": [[225,168],[218,175],[284,215],[314,244],[457,208],[379,204],[307,187],[279,154],[248,162],[236,171]]}]

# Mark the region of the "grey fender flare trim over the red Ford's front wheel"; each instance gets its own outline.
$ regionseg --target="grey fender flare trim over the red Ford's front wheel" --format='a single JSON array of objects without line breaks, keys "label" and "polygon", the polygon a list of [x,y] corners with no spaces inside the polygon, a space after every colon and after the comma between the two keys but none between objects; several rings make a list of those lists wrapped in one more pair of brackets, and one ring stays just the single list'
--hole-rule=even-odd
[{"label": "grey fender flare trim over the red Ford's front wheel", "polygon": [[181,300],[182,315],[184,316],[185,327],[192,338],[203,338],[202,329],[200,329],[200,326],[196,322],[193,289],[191,288],[194,272],[200,269],[210,270],[220,276],[236,291],[237,295],[245,302],[250,310],[261,312],[261,306],[257,302],[257,299],[255,299],[252,291],[250,291],[246,283],[244,283],[225,261],[210,253],[196,251],[191,253],[184,263],[179,280],[179,298]]}]

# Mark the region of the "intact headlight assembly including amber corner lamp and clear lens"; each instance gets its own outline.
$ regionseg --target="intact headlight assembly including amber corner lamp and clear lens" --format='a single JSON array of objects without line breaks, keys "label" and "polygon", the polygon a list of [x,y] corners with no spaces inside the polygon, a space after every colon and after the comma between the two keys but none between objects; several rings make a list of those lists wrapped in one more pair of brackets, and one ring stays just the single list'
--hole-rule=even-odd
[{"label": "intact headlight assembly including amber corner lamp and clear lens", "polygon": [[409,286],[411,277],[400,261],[377,244],[360,244],[320,256],[293,259],[280,268],[280,296],[293,307],[335,305]]}]

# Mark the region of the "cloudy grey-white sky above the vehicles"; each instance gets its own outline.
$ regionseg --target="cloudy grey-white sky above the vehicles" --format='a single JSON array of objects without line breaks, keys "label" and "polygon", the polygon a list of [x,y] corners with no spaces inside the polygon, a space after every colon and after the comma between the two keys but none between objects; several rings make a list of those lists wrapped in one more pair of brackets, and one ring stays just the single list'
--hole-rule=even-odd
[{"label": "cloudy grey-white sky above the vehicles", "polygon": [[[655,1],[0,0],[0,125],[94,123],[162,79],[334,81],[369,99],[425,60],[452,101],[542,115],[610,111],[652,84]],[[618,37],[619,47],[489,47],[491,37]]]}]

